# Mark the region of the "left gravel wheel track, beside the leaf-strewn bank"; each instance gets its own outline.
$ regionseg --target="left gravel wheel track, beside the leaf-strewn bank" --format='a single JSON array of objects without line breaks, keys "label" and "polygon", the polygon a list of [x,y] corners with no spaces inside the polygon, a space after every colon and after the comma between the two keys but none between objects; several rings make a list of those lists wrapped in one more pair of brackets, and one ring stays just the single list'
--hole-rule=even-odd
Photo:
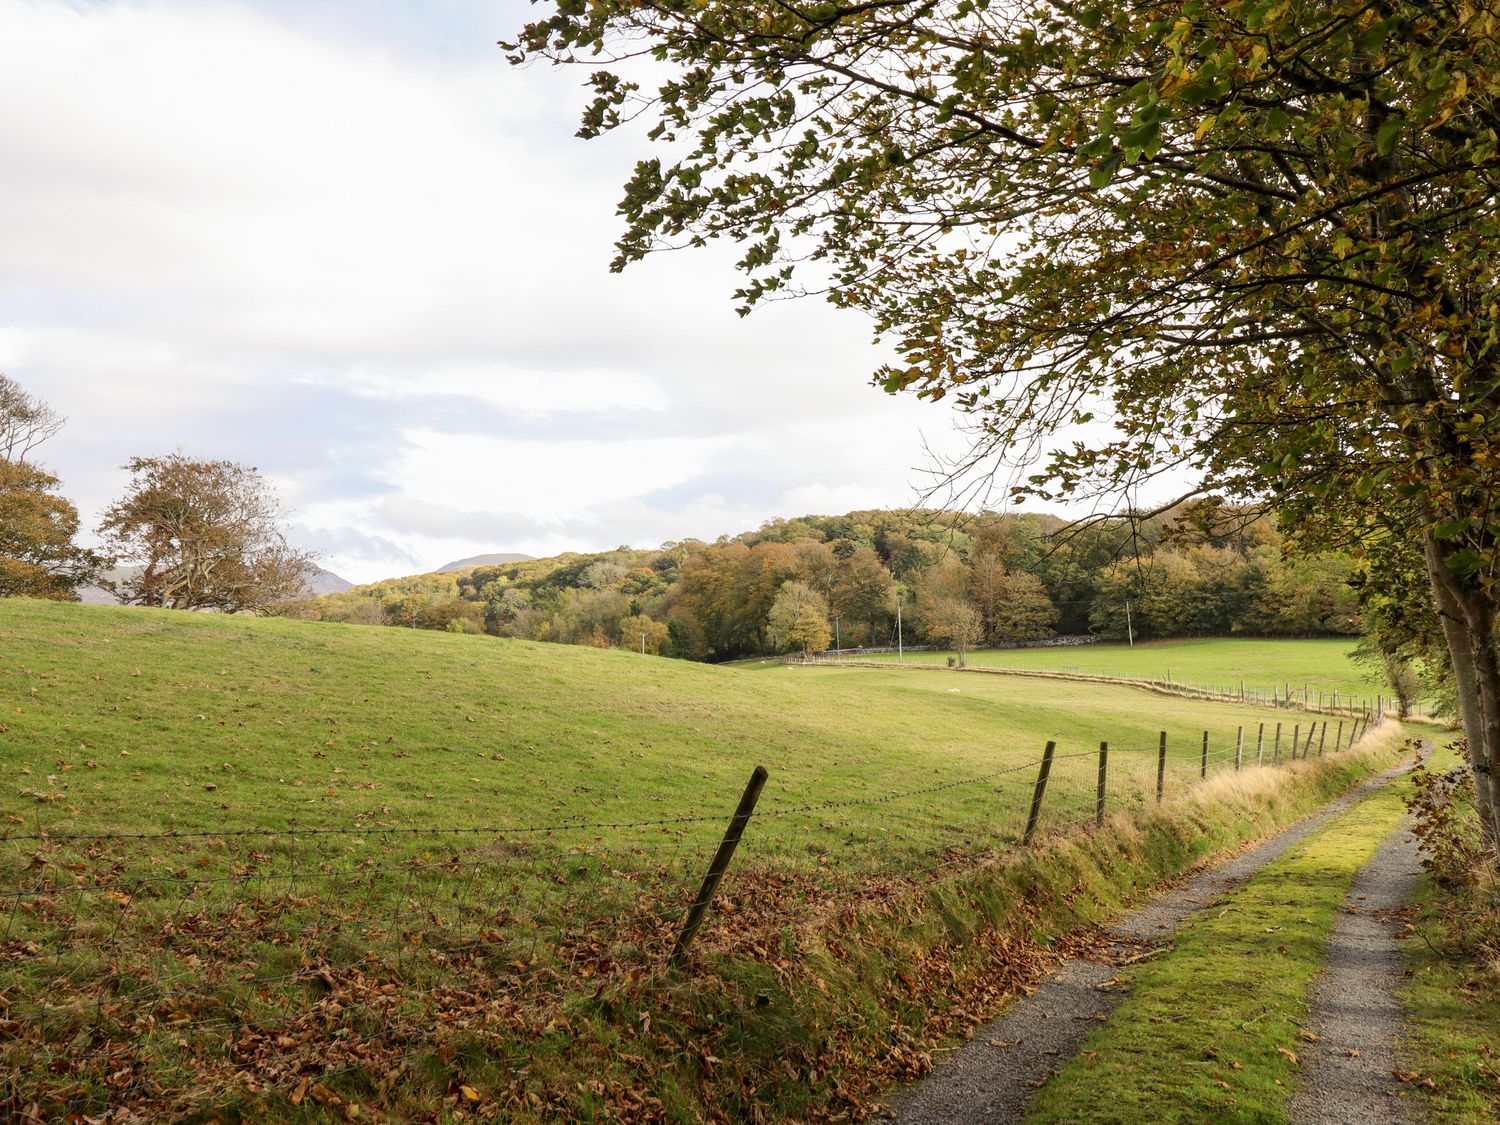
[{"label": "left gravel wheel track, beside the leaf-strewn bank", "polygon": [[1107,1020],[1119,1004],[1120,998],[1113,988],[1118,968],[1164,946],[1188,915],[1233,891],[1257,870],[1406,770],[1406,765],[1400,765],[1356,786],[1264,843],[1194,876],[1122,918],[1108,932],[1112,944],[1101,946],[1088,960],[1065,962],[1048,974],[1032,994],[975,1032],[974,1040],[952,1059],[892,1096],[888,1116],[910,1125],[1022,1120],[1026,1102],[1036,1088],[1077,1053],[1094,1026]]}]

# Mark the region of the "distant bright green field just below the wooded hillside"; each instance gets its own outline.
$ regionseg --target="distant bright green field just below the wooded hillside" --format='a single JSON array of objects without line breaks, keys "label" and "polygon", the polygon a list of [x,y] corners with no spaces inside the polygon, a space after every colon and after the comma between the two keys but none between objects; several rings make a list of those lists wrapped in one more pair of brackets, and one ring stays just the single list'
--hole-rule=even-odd
[{"label": "distant bright green field just below the wooded hillside", "polygon": [[[1011,648],[969,652],[975,668],[1017,668],[1048,672],[1084,672],[1122,680],[1173,680],[1234,688],[1292,687],[1338,692],[1340,696],[1374,696],[1386,690],[1371,669],[1356,664],[1352,639],[1316,638],[1282,640],[1264,638],[1192,638],[1185,640],[1148,640],[1138,645],[1078,645],[1074,648]],[[910,652],[906,663],[944,664],[948,652]],[[896,656],[861,660],[896,662]]]}]

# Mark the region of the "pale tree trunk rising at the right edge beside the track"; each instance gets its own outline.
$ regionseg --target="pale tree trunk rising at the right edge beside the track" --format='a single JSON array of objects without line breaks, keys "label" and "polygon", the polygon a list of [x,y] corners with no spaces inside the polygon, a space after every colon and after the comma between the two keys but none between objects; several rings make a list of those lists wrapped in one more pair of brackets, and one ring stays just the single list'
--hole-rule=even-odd
[{"label": "pale tree trunk rising at the right edge beside the track", "polygon": [[1474,771],[1474,807],[1491,860],[1500,866],[1500,810],[1496,807],[1494,766],[1500,762],[1500,660],[1496,651],[1496,604],[1478,585],[1454,576],[1443,546],[1424,536],[1426,573],[1448,640],[1458,690],[1458,716]]}]

